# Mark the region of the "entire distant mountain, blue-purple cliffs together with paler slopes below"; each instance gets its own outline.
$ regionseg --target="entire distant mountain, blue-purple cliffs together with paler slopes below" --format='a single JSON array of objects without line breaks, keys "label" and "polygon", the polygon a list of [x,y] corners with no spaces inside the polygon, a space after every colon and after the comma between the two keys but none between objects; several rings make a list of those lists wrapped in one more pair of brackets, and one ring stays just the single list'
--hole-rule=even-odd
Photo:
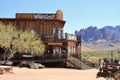
[{"label": "entire distant mountain, blue-purple cliffs together with paler slopes below", "polygon": [[82,41],[90,48],[113,47],[120,43],[120,25],[104,26],[98,29],[96,26],[89,26],[86,29],[75,31]]}]

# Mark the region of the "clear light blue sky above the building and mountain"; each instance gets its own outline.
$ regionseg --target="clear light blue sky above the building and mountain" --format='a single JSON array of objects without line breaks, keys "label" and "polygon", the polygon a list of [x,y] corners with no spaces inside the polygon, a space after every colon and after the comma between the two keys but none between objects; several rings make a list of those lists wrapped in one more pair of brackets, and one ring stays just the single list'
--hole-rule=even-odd
[{"label": "clear light blue sky above the building and mountain", "polygon": [[64,32],[89,26],[120,25],[120,0],[0,0],[0,18],[16,13],[56,13],[63,11]]}]

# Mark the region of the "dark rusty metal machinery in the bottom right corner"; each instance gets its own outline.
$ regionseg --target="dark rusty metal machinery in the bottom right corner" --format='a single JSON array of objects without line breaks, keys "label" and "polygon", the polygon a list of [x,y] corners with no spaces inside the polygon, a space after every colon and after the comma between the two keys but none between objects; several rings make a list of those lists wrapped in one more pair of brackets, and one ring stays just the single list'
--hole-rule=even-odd
[{"label": "dark rusty metal machinery in the bottom right corner", "polygon": [[112,77],[120,80],[120,60],[117,59],[104,59],[101,63],[97,77]]}]

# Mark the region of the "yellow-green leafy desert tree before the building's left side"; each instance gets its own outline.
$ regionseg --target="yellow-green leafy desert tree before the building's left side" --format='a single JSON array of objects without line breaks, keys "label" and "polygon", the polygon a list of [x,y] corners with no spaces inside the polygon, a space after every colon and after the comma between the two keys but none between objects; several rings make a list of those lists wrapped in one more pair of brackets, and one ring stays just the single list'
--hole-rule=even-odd
[{"label": "yellow-green leafy desert tree before the building's left side", "polygon": [[6,61],[16,52],[40,55],[45,51],[45,46],[36,33],[33,36],[30,30],[17,30],[12,24],[2,23],[0,23],[0,47],[5,51]]}]

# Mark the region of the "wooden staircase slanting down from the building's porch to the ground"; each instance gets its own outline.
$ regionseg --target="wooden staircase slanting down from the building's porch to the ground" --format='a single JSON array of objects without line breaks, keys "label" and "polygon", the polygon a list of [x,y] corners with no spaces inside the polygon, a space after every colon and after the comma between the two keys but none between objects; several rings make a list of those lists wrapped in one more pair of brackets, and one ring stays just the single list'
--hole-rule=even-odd
[{"label": "wooden staircase slanting down from the building's porch to the ground", "polygon": [[80,61],[79,59],[71,56],[71,55],[67,55],[67,62],[69,62],[70,64],[72,64],[75,68],[77,69],[91,69],[92,67],[89,67],[88,65],[84,64],[82,61]]}]

